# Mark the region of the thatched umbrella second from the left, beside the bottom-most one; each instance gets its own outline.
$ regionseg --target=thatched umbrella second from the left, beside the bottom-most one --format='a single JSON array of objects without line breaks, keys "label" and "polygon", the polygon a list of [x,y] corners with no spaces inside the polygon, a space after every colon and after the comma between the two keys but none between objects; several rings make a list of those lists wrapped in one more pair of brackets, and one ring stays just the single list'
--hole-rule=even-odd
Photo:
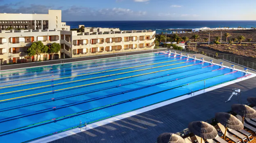
[{"label": "thatched umbrella second from the left, beside the bottom-most one", "polygon": [[217,136],[217,130],[210,124],[203,121],[194,121],[188,124],[188,129],[193,134],[202,139],[214,139]]}]

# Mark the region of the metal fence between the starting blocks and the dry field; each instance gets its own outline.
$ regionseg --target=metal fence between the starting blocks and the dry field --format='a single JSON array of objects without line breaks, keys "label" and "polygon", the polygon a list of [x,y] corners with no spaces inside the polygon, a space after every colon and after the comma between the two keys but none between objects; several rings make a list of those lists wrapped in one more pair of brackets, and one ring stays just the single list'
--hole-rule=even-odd
[{"label": "metal fence between the starting blocks and the dry field", "polygon": [[235,55],[231,56],[231,55],[228,55],[228,54],[219,54],[219,53],[218,53],[218,55],[216,55],[216,54],[206,53],[206,52],[203,52],[203,51],[194,51],[194,50],[190,50],[190,49],[186,49],[186,48],[185,49],[182,49],[182,48],[176,49],[176,48],[174,48],[174,50],[182,51],[182,52],[186,52],[186,53],[190,53],[190,54],[203,54],[205,56],[208,56],[210,58],[214,58],[214,59],[217,59],[217,60],[228,60],[232,63],[237,64],[237,65],[256,70],[256,58],[255,58],[255,62],[251,62],[249,60],[245,60],[244,58],[237,57]]}]

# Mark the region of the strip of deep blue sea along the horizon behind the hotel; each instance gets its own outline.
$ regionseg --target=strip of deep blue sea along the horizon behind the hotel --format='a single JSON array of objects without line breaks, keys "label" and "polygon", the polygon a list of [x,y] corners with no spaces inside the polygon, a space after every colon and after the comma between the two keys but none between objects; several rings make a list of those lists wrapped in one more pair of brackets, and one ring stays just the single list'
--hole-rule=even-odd
[{"label": "strip of deep blue sea along the horizon behind the hotel", "polygon": [[[78,25],[85,27],[120,28],[121,30],[155,30],[156,33],[166,32],[161,29],[196,29],[201,27],[256,27],[256,21],[66,21],[71,28]],[[171,31],[167,31],[171,33]]]}]

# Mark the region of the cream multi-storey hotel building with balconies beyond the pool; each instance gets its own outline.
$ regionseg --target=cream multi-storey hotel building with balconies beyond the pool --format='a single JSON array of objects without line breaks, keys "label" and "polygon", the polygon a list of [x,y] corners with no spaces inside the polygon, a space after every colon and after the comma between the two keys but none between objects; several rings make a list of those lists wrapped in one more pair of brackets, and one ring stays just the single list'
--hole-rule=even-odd
[{"label": "cream multi-storey hotel building with balconies beyond the pool", "polygon": [[[153,49],[155,46],[155,31],[95,27],[85,27],[83,32],[70,31],[61,15],[61,10],[49,10],[48,14],[0,13],[0,64],[16,63],[18,59],[34,61],[34,56],[27,55],[27,48],[35,41],[49,46],[53,42],[59,43],[62,49],[54,54],[54,59],[61,55],[75,58]],[[48,60],[51,56],[42,53],[40,57]]]}]

